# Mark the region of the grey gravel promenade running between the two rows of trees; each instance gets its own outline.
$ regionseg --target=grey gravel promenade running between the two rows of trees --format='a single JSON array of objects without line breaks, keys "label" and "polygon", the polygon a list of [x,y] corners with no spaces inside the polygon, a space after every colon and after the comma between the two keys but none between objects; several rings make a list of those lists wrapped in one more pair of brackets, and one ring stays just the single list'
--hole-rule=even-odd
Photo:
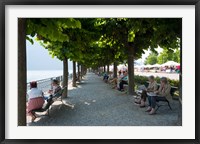
[{"label": "grey gravel promenade running between the two rows of trees", "polygon": [[[133,96],[114,90],[101,77],[88,73],[77,88],[69,88],[68,102],[74,108],[53,104],[50,117],[37,118],[29,126],[176,126],[178,101],[172,110],[160,107],[156,115],[134,104]],[[59,109],[60,107],[60,109]]]}]

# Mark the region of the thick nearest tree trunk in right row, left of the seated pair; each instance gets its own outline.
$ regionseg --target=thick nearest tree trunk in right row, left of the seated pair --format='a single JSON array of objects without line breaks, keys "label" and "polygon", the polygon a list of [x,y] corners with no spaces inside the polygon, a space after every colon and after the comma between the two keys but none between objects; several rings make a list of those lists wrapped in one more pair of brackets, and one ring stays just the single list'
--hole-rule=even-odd
[{"label": "thick nearest tree trunk in right row, left of the seated pair", "polygon": [[134,47],[132,44],[128,44],[128,93],[129,95],[134,94]]}]

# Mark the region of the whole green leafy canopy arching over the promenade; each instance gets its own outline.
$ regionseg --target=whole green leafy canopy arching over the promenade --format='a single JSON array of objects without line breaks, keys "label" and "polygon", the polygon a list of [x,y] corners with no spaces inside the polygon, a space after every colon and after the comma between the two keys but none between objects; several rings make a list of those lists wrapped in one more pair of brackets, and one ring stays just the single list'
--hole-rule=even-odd
[{"label": "whole green leafy canopy arching over the promenade", "polygon": [[[127,61],[129,42],[135,59],[158,45],[176,49],[180,25],[181,19],[163,18],[30,18],[27,39],[33,42],[31,37],[36,37],[52,57],[95,68]],[[155,63],[153,58],[149,61]]]}]

